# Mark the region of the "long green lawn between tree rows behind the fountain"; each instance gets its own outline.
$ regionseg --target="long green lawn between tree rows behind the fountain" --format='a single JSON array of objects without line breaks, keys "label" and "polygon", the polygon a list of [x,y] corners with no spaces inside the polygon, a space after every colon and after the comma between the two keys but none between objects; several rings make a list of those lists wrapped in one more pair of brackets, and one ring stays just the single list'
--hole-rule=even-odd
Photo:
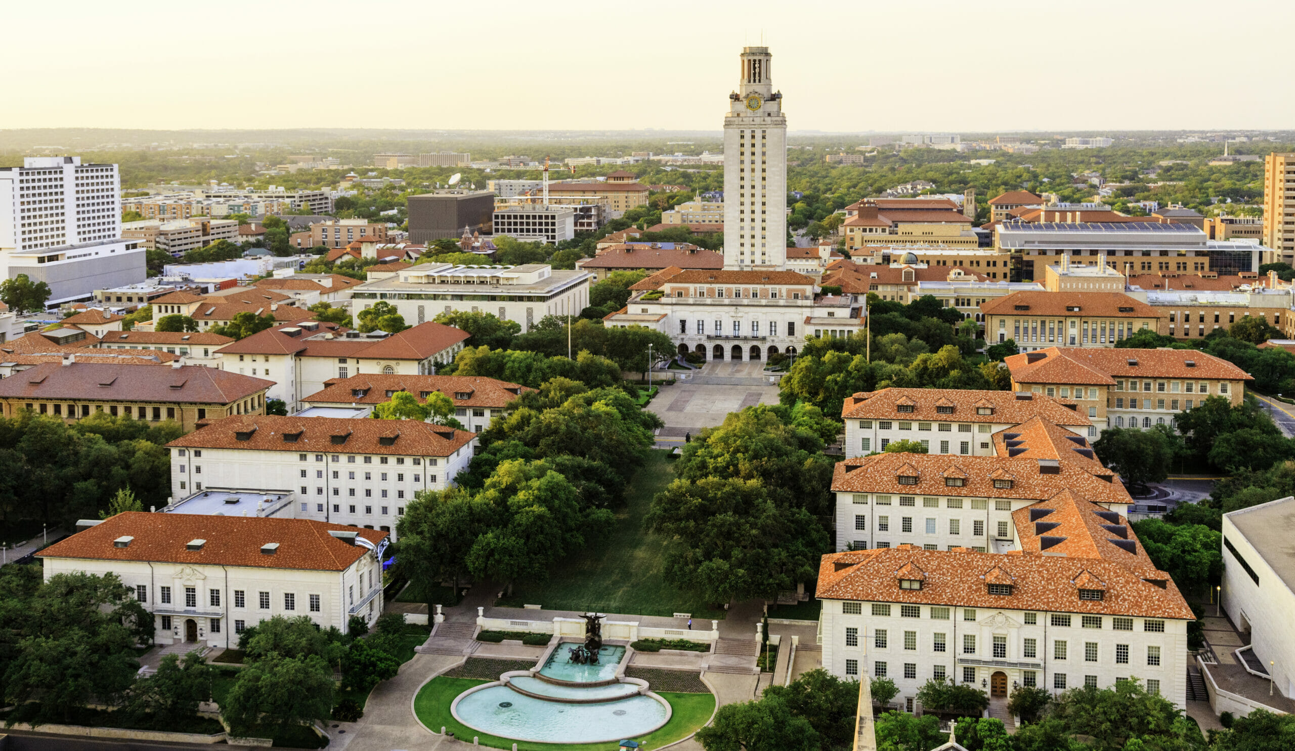
[{"label": "long green lawn between tree rows behind the fountain", "polygon": [[692,612],[701,628],[706,619],[724,618],[701,597],[667,584],[662,571],[667,545],[642,528],[651,499],[675,478],[667,451],[653,451],[629,482],[625,509],[601,540],[557,566],[546,584],[518,585],[500,605],[543,605],[550,610],[600,610],[632,615]]}]

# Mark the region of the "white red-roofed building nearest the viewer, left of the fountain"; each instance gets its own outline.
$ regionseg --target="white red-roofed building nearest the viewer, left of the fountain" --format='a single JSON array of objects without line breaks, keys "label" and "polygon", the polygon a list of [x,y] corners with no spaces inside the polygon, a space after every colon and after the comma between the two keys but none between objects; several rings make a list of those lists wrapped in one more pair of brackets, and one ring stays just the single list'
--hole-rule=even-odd
[{"label": "white red-roofed building nearest the viewer, left of the fountain", "polygon": [[310,519],[127,511],[40,552],[44,576],[115,574],[157,644],[233,647],[276,615],[348,631],[382,614],[387,535]]}]

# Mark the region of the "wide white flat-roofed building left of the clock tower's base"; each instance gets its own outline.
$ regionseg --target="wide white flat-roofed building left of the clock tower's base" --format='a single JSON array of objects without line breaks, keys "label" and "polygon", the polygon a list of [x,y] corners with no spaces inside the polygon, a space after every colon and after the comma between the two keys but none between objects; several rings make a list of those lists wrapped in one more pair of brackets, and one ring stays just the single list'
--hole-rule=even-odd
[{"label": "wide white flat-roofed building left of the clock tower's base", "polygon": [[352,311],[378,300],[396,307],[407,324],[430,321],[442,312],[480,311],[517,321],[531,330],[548,315],[576,316],[589,306],[593,275],[556,271],[549,264],[455,265],[421,263],[394,277],[354,287]]}]

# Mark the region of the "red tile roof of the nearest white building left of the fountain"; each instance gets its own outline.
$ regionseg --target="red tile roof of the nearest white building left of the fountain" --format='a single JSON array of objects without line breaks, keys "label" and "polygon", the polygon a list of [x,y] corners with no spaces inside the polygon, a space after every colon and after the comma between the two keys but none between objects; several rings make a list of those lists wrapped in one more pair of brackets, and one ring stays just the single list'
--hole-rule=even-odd
[{"label": "red tile roof of the nearest white building left of the fountain", "polygon": [[[40,552],[43,558],[92,561],[146,561],[304,571],[344,571],[368,553],[329,535],[330,530],[356,532],[374,545],[388,533],[310,519],[221,517],[206,514],[148,514],[126,511],[54,543]],[[114,540],[132,537],[124,548]],[[190,540],[205,540],[201,550],[189,550]],[[278,543],[272,555],[262,546]]]}]

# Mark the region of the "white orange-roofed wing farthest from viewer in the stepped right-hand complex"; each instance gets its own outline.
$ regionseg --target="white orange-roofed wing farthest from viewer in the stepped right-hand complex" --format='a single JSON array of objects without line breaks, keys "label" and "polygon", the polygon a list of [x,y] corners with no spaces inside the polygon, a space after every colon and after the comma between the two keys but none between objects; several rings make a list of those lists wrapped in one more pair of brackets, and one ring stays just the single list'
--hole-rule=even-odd
[{"label": "white orange-roofed wing farthest from viewer in the stepped right-hand complex", "polygon": [[995,456],[993,436],[1033,417],[1074,435],[1097,438],[1087,414],[1087,408],[1070,399],[958,388],[861,391],[846,399],[840,410],[846,457],[886,451],[896,440],[916,440],[929,453]]}]

